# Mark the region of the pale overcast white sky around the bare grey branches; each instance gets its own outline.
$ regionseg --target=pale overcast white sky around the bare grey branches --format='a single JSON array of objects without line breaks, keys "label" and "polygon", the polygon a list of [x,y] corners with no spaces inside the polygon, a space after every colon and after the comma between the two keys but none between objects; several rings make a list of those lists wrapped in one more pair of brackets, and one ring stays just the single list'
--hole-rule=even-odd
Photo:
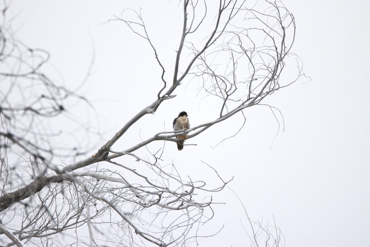
[{"label": "pale overcast white sky around the bare grey branches", "polygon": [[[159,56],[166,64],[173,61],[179,43],[178,33],[172,31],[162,30],[156,36],[155,23],[165,21],[181,27],[182,18],[174,13],[163,14],[169,10],[169,1],[150,2],[13,0],[10,5],[16,37],[29,47],[49,51],[50,64],[60,71],[68,86],[78,86],[95,56],[83,92],[94,103],[100,124],[96,126],[100,126],[105,138],[152,102],[151,90],[157,90],[153,85],[160,83],[160,71],[153,65],[148,44],[132,39],[124,23],[101,24],[125,8],[141,6],[142,15],[153,28],[154,44],[162,47]],[[296,19],[292,51],[302,59],[304,71],[312,79],[270,97],[268,103],[284,116],[284,133],[280,130],[270,150],[278,125],[267,107],[257,106],[246,111],[248,119],[242,131],[223,145],[210,147],[235,133],[243,122],[241,116],[189,140],[198,146],[185,146],[178,152],[173,145],[166,156],[174,159],[185,175],[204,175],[202,160],[225,179],[234,176],[230,188],[238,194],[249,216],[253,220],[268,218],[271,223],[273,215],[286,246],[369,246],[370,3],[283,3]],[[164,10],[159,12],[162,4]],[[50,71],[60,80],[55,69]],[[182,110],[188,112],[193,126],[209,117],[200,99],[186,100],[163,106],[155,114],[153,121],[158,123],[154,129],[141,130],[142,126],[138,126],[132,138],[139,140],[139,130],[144,137],[162,131],[164,123],[171,129],[172,120]],[[233,121],[234,128],[225,130],[226,124]],[[241,225],[246,223],[245,215],[238,199],[228,189],[213,196],[226,204],[215,206],[215,218],[205,227],[218,229],[225,224],[225,228],[215,237],[202,240],[201,246],[247,246],[248,237]]]}]

